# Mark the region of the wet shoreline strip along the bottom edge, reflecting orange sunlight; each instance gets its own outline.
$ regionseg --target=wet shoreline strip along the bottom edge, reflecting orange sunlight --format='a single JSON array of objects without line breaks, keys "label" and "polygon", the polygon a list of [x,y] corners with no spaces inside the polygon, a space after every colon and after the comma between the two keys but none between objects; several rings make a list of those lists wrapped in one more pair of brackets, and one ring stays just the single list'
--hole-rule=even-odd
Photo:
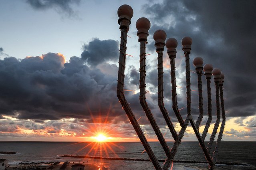
[{"label": "wet shoreline strip along the bottom edge, reflecting orange sunlight", "polygon": [[[131,161],[131,160],[122,160],[122,159],[117,160],[116,158],[104,159],[104,157],[71,156],[71,155],[69,155],[68,157],[60,156],[59,158],[61,159],[59,160],[60,163],[57,164],[57,166],[54,166],[54,168],[49,168],[50,166],[52,166],[52,164],[40,164],[40,165],[37,165],[37,167],[41,170],[42,169],[48,170],[48,168],[49,170],[59,170],[60,167],[62,167],[62,165],[65,164],[65,162],[69,162],[67,167],[63,170],[72,170],[71,166],[74,164],[83,164],[85,166],[85,170],[99,170],[99,169],[100,170],[117,170],[117,169],[131,170],[131,169],[136,169],[138,167],[143,167],[143,170],[152,170],[154,168],[151,162],[149,161],[138,161],[138,160]],[[200,161],[195,162],[195,161],[174,160],[173,162],[174,162],[173,168],[179,169],[179,170],[205,170],[208,167],[208,163],[200,162]],[[10,163],[10,167],[7,170],[32,170],[32,169],[35,170],[36,169],[35,166],[33,168],[33,165],[31,165],[30,163],[31,162],[27,162],[26,165],[18,164],[18,163],[15,163],[15,164]],[[218,162],[218,163],[221,163],[221,162]],[[244,167],[246,169],[253,169],[253,167],[249,164],[231,163],[231,165],[227,165],[227,164],[218,164],[218,163],[216,164],[216,170],[222,170],[223,168],[240,170],[240,169],[243,169],[241,167]]]}]

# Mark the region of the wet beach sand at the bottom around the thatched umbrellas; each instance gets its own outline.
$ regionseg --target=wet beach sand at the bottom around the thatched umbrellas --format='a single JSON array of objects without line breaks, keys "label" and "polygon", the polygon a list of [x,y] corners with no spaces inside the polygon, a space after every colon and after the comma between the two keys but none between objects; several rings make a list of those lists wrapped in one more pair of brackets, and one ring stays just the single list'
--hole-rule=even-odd
[{"label": "wet beach sand at the bottom around the thatched umbrellas", "polygon": [[[71,170],[72,165],[74,164],[83,164],[85,166],[84,170],[153,170],[153,164],[151,162],[146,161],[126,161],[126,160],[103,160],[103,159],[82,159],[82,160],[75,160],[70,158],[70,163],[67,164],[65,170]],[[62,164],[65,162],[60,160],[60,164],[55,165],[54,168],[48,169],[51,164],[42,164],[36,165],[38,168],[44,170],[59,170]],[[73,163],[74,162],[74,163]],[[85,163],[83,163],[85,162]],[[161,164],[162,166],[163,164]],[[208,164],[195,164],[195,163],[179,163],[175,162],[173,164],[173,170],[206,170]],[[32,169],[33,166],[31,165],[18,165],[18,164],[10,164],[8,170],[29,170]],[[254,169],[251,166],[228,166],[228,165],[216,165],[216,170],[223,170],[223,169],[232,169],[232,170],[241,170],[241,169]]]}]

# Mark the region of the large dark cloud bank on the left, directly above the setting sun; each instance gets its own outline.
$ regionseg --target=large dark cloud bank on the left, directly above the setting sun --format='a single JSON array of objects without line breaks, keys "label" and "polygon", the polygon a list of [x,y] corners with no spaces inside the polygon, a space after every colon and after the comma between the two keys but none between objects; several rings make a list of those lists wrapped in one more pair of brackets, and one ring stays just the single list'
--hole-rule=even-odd
[{"label": "large dark cloud bank on the left, directly above the setting sun", "polygon": [[[106,46],[97,46],[96,42],[117,44],[114,40],[94,40],[86,45],[89,52],[86,61],[95,65],[97,58],[102,57],[102,51],[107,50],[100,49]],[[89,47],[95,46],[98,50],[91,52]],[[118,51],[118,46],[114,45],[112,49]],[[105,62],[117,55],[108,51],[106,54],[105,59],[99,61],[102,66],[99,68],[88,67],[85,58],[75,56],[65,63],[60,53],[0,60],[0,114],[37,123],[62,118],[87,121],[92,119],[91,115],[95,118],[101,115],[105,120],[107,114],[107,122],[118,123],[126,119],[125,114],[120,114],[123,111],[116,97],[117,66]],[[61,128],[61,125],[52,126]]]}]

